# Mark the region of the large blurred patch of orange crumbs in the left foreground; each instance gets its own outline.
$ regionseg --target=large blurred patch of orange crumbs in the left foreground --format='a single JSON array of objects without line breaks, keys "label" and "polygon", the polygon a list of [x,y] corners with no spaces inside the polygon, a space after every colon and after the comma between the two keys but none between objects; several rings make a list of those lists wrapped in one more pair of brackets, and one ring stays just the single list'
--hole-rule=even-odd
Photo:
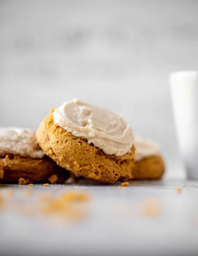
[{"label": "large blurred patch of orange crumbs in the left foreground", "polygon": [[[31,188],[24,188],[23,193],[26,196],[31,195]],[[31,199],[31,198],[29,198]],[[26,199],[27,200],[27,199]],[[85,191],[69,191],[62,190],[61,193],[41,192],[37,195],[37,200],[27,201],[23,207],[18,207],[19,204],[12,204],[13,209],[19,211],[26,216],[44,216],[51,218],[51,223],[54,221],[62,224],[62,221],[75,223],[87,216],[89,210],[89,194]],[[0,210],[3,209],[4,200],[0,193]]]}]

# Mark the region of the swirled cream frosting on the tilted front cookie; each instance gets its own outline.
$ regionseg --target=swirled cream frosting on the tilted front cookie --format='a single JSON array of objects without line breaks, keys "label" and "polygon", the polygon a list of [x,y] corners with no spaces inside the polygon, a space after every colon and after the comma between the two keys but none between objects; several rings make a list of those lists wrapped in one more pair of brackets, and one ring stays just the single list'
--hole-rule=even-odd
[{"label": "swirled cream frosting on the tilted front cookie", "polygon": [[121,115],[79,99],[64,102],[54,110],[53,118],[65,131],[85,138],[105,154],[122,156],[134,143],[133,131]]}]

